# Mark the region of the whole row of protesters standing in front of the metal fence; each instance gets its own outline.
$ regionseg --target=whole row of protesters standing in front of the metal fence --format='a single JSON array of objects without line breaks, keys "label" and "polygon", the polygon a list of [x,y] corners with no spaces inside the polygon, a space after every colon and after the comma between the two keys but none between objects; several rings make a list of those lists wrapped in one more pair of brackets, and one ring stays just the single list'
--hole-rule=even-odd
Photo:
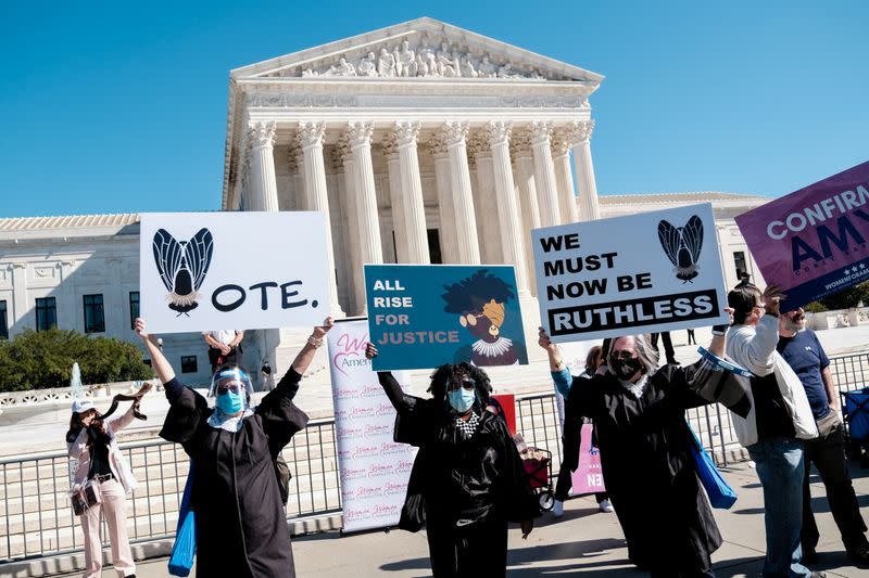
[{"label": "whole row of protesters standing in front of the metal fence", "polygon": [[[845,463],[830,361],[805,327],[804,311],[782,311],[782,304],[786,309],[778,287],[761,292],[741,283],[728,294],[731,324],[713,327],[711,359],[684,365],[676,362],[668,338],[668,359],[660,364],[651,337],[638,334],[606,339],[590,351],[584,372],[574,376],[541,329],[539,345],[565,399],[554,515],[563,514],[577,468],[580,428],[591,422],[606,486],[596,498],[602,511],[615,510],[630,561],[653,577],[715,576],[711,554],[722,537],[697,478],[685,410],[716,401],[704,393],[741,388],[747,401],[720,401],[730,409],[763,486],[763,575],[823,576],[806,567],[815,562],[819,541],[808,489],[811,464],[827,489],[845,551],[869,566],[867,526]],[[254,406],[251,376],[230,356],[240,354],[243,333],[205,335],[221,362],[203,397],[180,383],[144,320],[136,320],[169,402],[160,435],[179,444],[196,466],[191,504],[198,516],[199,576],[294,576],[275,461],[307,423],[293,398],[331,326],[327,318],[312,330],[278,385]],[[366,355],[377,356],[373,344]],[[752,377],[722,370],[715,357],[742,365]],[[506,422],[487,409],[492,404],[489,376],[473,363],[441,365],[431,374],[426,398],[405,394],[389,372],[378,378],[398,412],[395,441],[418,448],[399,527],[426,528],[436,577],[504,576],[509,523],[527,538],[541,512]],[[77,460],[74,489],[96,480],[102,492],[102,503],[80,516],[85,577],[101,570],[103,515],[115,571],[135,576],[125,496],[136,481],[115,433],[130,423],[137,403],[114,421],[103,420],[89,401],[73,406],[66,441]]]}]

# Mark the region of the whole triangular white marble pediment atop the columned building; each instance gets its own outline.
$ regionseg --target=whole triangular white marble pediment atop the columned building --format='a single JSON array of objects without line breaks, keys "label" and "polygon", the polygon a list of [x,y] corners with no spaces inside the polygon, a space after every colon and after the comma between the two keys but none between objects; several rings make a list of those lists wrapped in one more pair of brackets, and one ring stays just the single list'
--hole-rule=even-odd
[{"label": "whole triangular white marble pediment atop the columned building", "polygon": [[554,80],[603,76],[432,18],[375,30],[237,68],[234,79]]}]

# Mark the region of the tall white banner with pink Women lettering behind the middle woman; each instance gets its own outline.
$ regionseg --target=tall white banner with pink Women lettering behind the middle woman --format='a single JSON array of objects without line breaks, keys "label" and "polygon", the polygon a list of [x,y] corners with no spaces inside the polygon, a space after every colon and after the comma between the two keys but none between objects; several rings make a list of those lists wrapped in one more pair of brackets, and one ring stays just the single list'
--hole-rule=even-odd
[{"label": "tall white banner with pink Women lettering behind the middle woman", "polygon": [[[368,322],[328,333],[344,531],[395,526],[416,448],[392,440],[395,410],[365,358]],[[402,372],[395,378],[405,387]]]}]

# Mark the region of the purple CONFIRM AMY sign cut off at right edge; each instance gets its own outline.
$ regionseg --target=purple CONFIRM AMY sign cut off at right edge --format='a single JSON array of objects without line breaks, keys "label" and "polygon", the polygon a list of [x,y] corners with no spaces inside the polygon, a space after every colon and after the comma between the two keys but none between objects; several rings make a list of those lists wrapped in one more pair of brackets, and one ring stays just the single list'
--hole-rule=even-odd
[{"label": "purple CONFIRM AMY sign cut off at right edge", "polygon": [[785,309],[869,281],[869,162],[736,217]]}]

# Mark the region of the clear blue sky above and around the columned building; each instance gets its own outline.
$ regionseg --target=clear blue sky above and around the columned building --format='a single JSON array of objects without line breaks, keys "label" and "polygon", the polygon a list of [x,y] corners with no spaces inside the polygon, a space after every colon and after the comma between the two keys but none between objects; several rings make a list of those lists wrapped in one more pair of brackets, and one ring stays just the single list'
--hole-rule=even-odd
[{"label": "clear blue sky above and around the columned building", "polygon": [[231,68],[428,15],[606,76],[601,194],[778,196],[869,158],[869,2],[0,5],[0,217],[219,208]]}]

